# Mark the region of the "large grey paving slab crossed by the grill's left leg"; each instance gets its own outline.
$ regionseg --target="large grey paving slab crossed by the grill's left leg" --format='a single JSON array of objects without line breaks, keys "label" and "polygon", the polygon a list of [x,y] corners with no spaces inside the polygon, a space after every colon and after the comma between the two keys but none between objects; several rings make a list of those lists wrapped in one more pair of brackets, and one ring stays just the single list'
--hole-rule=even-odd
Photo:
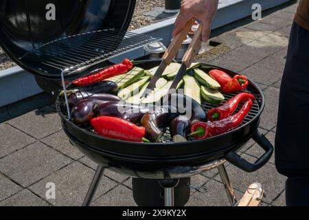
[{"label": "large grey paving slab crossed by the grill's left leg", "polygon": [[[56,186],[56,199],[48,199],[50,203],[54,206],[81,206],[94,173],[91,168],[74,162],[30,186],[30,190],[45,198],[46,184],[52,182]],[[98,199],[115,186],[115,181],[102,177],[94,199]]]}]

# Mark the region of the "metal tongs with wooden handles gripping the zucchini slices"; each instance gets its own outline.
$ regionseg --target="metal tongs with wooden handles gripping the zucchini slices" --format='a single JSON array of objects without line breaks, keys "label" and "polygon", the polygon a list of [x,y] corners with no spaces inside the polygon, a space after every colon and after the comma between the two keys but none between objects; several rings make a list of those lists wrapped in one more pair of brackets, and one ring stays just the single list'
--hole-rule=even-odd
[{"label": "metal tongs with wooden handles gripping the zucchini slices", "polygon": [[[166,50],[165,54],[162,57],[162,61],[155,72],[155,75],[150,80],[150,83],[148,84],[147,88],[145,89],[144,93],[141,95],[141,98],[147,97],[150,92],[155,89],[155,85],[157,83],[157,80],[161,77],[163,74],[165,68],[172,63],[174,60],[174,57],[176,56],[177,52],[179,51],[179,48],[181,47],[181,44],[183,41],[187,38],[187,33],[190,31],[192,25],[194,24],[194,19],[191,19],[187,22],[185,25],[185,28],[177,34],[174,39],[172,40],[172,43],[170,43],[168,50]],[[187,68],[189,68],[192,64],[194,56],[198,53],[198,49],[201,46],[201,34],[202,34],[203,25],[199,25],[198,30],[196,30],[194,37],[192,39],[192,42],[190,43],[187,51],[185,52],[185,55],[183,56],[183,59],[181,61],[181,67],[179,71],[176,74],[176,77],[173,80],[173,83],[169,89],[176,89],[179,82],[183,79],[183,75],[185,75],[185,72]]]}]

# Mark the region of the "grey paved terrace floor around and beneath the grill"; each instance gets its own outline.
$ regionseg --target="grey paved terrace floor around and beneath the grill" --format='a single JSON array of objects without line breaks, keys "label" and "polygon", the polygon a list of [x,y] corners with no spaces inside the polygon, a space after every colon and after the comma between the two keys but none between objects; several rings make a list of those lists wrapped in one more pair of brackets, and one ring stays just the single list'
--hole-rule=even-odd
[{"label": "grey paved terrace floor around and beneath the grill", "polygon": [[[266,108],[260,130],[273,142],[275,138],[279,87],[284,69],[288,36],[297,4],[277,10],[260,21],[216,36],[221,43],[207,47],[196,59],[240,72],[263,89]],[[61,129],[54,107],[30,111],[0,124],[0,206],[80,206],[86,195],[96,164],[71,146]],[[252,140],[242,148],[249,161],[261,155]],[[227,172],[240,199],[247,187],[258,181],[265,195],[262,206],[284,206],[286,177],[275,169],[274,157],[254,173],[227,164]],[[47,199],[46,184],[56,185],[56,199]],[[216,169],[192,177],[187,206],[229,206]],[[109,170],[104,172],[93,206],[135,206],[131,179]]]}]

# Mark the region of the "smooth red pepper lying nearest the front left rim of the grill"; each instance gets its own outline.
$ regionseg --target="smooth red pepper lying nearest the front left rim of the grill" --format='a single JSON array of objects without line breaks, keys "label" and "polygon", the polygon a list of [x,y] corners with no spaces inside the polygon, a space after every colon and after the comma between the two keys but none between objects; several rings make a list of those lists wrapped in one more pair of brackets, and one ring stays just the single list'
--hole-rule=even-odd
[{"label": "smooth red pepper lying nearest the front left rim of the grill", "polygon": [[128,140],[131,142],[141,142],[144,139],[144,126],[137,126],[131,122],[121,118],[100,116],[91,119],[91,126],[104,137],[111,137],[113,139]]}]

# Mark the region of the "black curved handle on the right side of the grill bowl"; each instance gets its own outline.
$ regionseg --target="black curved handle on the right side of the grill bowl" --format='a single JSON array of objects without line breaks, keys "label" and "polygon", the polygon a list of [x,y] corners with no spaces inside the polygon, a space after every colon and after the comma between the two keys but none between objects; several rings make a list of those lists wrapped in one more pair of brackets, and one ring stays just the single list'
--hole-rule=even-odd
[{"label": "black curved handle on the right side of the grill bowl", "polygon": [[225,159],[228,162],[248,173],[260,169],[271,159],[271,155],[273,155],[273,144],[260,131],[257,131],[252,138],[266,151],[254,164],[247,162],[246,159],[240,157],[235,151],[231,151],[225,155]]}]

